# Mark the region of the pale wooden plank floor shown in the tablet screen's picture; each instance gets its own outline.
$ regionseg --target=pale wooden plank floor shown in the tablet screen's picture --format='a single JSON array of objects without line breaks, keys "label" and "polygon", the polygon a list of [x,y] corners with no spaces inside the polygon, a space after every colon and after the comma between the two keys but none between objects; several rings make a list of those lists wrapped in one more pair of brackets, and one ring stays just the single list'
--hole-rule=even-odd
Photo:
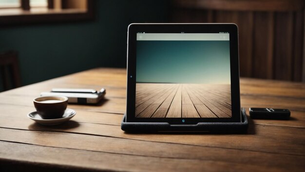
[{"label": "pale wooden plank floor shown in the tablet screen's picture", "polygon": [[137,83],[135,102],[136,117],[232,115],[230,86],[225,84]]}]

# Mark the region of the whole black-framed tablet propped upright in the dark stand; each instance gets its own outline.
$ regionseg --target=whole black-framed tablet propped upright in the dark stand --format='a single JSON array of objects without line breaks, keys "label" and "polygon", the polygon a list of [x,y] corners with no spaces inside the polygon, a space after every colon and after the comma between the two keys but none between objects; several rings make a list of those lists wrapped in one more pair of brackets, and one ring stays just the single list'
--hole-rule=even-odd
[{"label": "whole black-framed tablet propped upright in the dark stand", "polygon": [[242,122],[233,23],[128,27],[125,122]]}]

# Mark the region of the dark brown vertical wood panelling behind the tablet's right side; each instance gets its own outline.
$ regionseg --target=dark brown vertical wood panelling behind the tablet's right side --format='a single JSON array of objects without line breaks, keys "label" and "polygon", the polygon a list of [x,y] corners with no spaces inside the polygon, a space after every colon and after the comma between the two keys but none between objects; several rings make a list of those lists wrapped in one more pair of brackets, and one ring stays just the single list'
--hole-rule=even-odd
[{"label": "dark brown vertical wood panelling behind the tablet's right side", "polygon": [[240,75],[305,81],[304,0],[172,0],[172,22],[233,22]]}]

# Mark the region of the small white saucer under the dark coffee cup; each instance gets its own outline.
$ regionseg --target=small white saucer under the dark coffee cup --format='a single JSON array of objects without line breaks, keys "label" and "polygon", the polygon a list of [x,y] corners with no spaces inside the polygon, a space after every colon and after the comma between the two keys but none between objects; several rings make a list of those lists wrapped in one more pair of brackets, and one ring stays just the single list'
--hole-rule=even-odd
[{"label": "small white saucer under the dark coffee cup", "polygon": [[29,113],[28,117],[42,125],[58,125],[65,121],[68,121],[75,115],[76,115],[76,112],[73,109],[67,108],[61,118],[42,119],[41,116],[38,115],[38,113],[36,111]]}]

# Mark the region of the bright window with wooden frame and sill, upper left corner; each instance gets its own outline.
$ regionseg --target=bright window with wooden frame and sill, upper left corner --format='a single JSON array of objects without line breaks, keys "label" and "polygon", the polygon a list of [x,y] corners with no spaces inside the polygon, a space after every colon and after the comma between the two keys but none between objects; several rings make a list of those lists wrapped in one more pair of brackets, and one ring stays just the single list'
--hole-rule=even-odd
[{"label": "bright window with wooden frame and sill, upper left corner", "polygon": [[94,0],[0,0],[0,24],[93,19],[93,3]]}]

